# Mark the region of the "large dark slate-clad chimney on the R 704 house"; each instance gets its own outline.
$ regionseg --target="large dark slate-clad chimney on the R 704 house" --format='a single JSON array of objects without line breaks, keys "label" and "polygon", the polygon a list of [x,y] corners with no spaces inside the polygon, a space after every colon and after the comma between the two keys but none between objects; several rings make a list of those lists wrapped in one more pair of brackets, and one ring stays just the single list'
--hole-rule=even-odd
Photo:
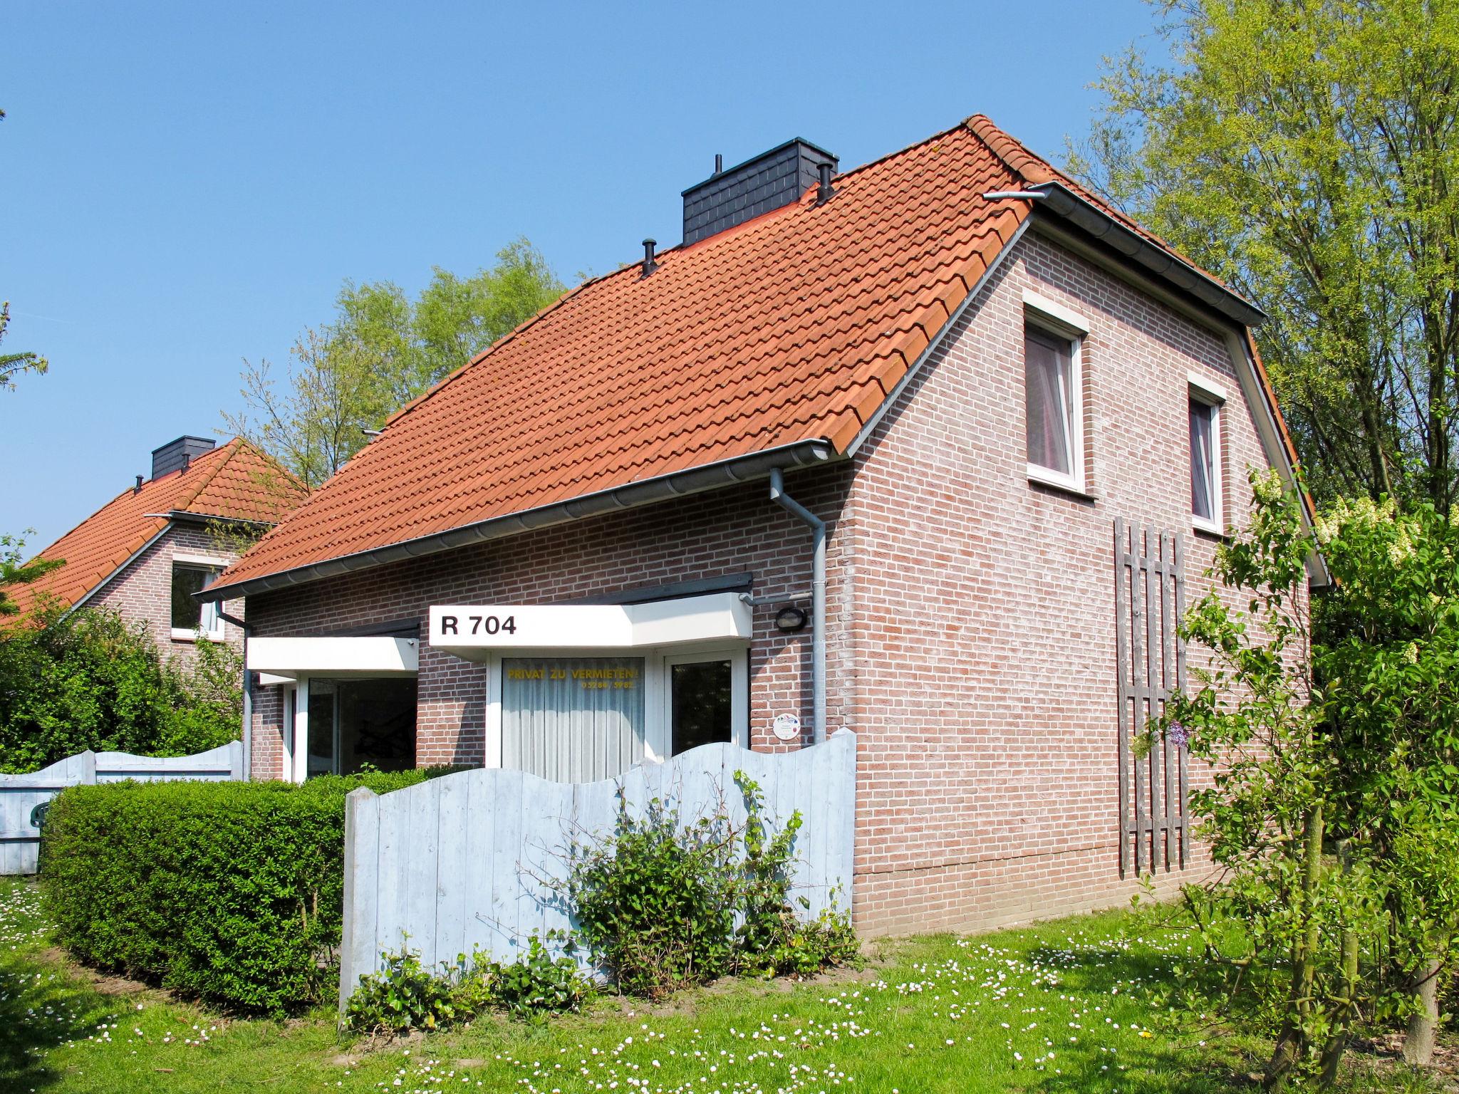
[{"label": "large dark slate-clad chimney on the R 704 house", "polygon": [[715,174],[684,191],[684,242],[693,244],[800,200],[820,182],[823,163],[836,174],[836,158],[800,137],[727,171],[719,169],[716,156]]}]

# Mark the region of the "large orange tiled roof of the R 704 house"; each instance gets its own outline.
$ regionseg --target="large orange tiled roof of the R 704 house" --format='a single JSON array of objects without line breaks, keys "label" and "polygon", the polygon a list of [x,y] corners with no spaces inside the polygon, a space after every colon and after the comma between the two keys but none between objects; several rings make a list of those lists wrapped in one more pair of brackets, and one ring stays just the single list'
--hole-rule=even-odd
[{"label": "large orange tiled roof of the R 704 house", "polygon": [[1112,247],[1236,322],[1261,317],[975,115],[839,175],[829,201],[811,187],[661,252],[646,277],[633,264],[566,293],[397,413],[214,589],[279,588],[845,455],[1039,204],[985,194],[1033,188],[1097,214]]}]

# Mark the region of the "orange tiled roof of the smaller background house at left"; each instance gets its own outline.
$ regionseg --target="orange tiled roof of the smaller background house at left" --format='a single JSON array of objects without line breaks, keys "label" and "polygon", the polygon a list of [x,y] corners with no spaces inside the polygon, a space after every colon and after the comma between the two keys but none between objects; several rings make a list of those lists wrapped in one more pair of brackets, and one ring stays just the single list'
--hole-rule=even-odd
[{"label": "orange tiled roof of the smaller background house at left", "polygon": [[63,559],[38,581],[6,589],[23,613],[42,595],[73,607],[95,592],[172,519],[277,524],[303,497],[305,489],[273,459],[241,438],[193,459],[142,489],[125,490],[66,535],[39,551],[39,559]]}]

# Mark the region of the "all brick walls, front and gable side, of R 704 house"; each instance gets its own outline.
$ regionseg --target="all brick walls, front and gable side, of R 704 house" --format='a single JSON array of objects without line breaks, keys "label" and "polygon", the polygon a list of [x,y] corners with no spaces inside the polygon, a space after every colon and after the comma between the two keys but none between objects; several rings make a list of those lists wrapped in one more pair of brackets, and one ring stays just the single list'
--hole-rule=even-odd
[{"label": "all brick walls, front and gable side, of R 704 house", "polygon": [[[1030,484],[1023,290],[1091,325],[1088,493]],[[830,528],[830,728],[861,737],[855,912],[868,934],[992,926],[1122,901],[1112,521],[1180,531],[1191,598],[1214,540],[1193,534],[1188,373],[1231,395],[1227,515],[1263,462],[1223,343],[1033,235],[854,461],[786,476]],[[260,635],[422,621],[430,604],[557,602],[750,570],[756,594],[810,585],[810,534],[765,483],[538,529],[254,597]],[[808,633],[754,613],[751,742],[810,725]],[[420,652],[417,761],[480,763],[484,670]],[[282,773],[277,688],[255,699],[254,772]],[[1185,875],[1201,872],[1199,859]]]}]

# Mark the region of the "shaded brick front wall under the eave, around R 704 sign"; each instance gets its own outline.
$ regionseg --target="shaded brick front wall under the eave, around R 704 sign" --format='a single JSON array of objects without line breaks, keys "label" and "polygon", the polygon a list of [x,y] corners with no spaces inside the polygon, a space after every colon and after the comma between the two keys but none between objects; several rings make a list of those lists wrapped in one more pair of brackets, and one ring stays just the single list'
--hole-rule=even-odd
[{"label": "shaded brick front wall under the eave, around R 704 sign", "polygon": [[[829,565],[848,575],[843,583],[851,567],[835,563],[835,519],[851,470],[837,464],[785,478],[794,497],[832,522]],[[553,604],[750,572],[756,597],[773,600],[753,611],[750,735],[756,748],[773,750],[794,747],[770,734],[779,713],[800,715],[810,732],[810,633],[775,629],[778,607],[792,602],[792,594],[808,592],[810,565],[810,529],[770,502],[762,481],[268,592],[249,598],[248,610],[260,636],[318,635],[410,618],[419,620],[425,633],[432,604]],[[839,595],[835,582],[832,595]],[[810,607],[808,600],[800,602]],[[422,645],[416,761],[481,763],[484,707],[484,665]],[[280,706],[255,735],[260,776],[282,770],[282,732]]]}]

